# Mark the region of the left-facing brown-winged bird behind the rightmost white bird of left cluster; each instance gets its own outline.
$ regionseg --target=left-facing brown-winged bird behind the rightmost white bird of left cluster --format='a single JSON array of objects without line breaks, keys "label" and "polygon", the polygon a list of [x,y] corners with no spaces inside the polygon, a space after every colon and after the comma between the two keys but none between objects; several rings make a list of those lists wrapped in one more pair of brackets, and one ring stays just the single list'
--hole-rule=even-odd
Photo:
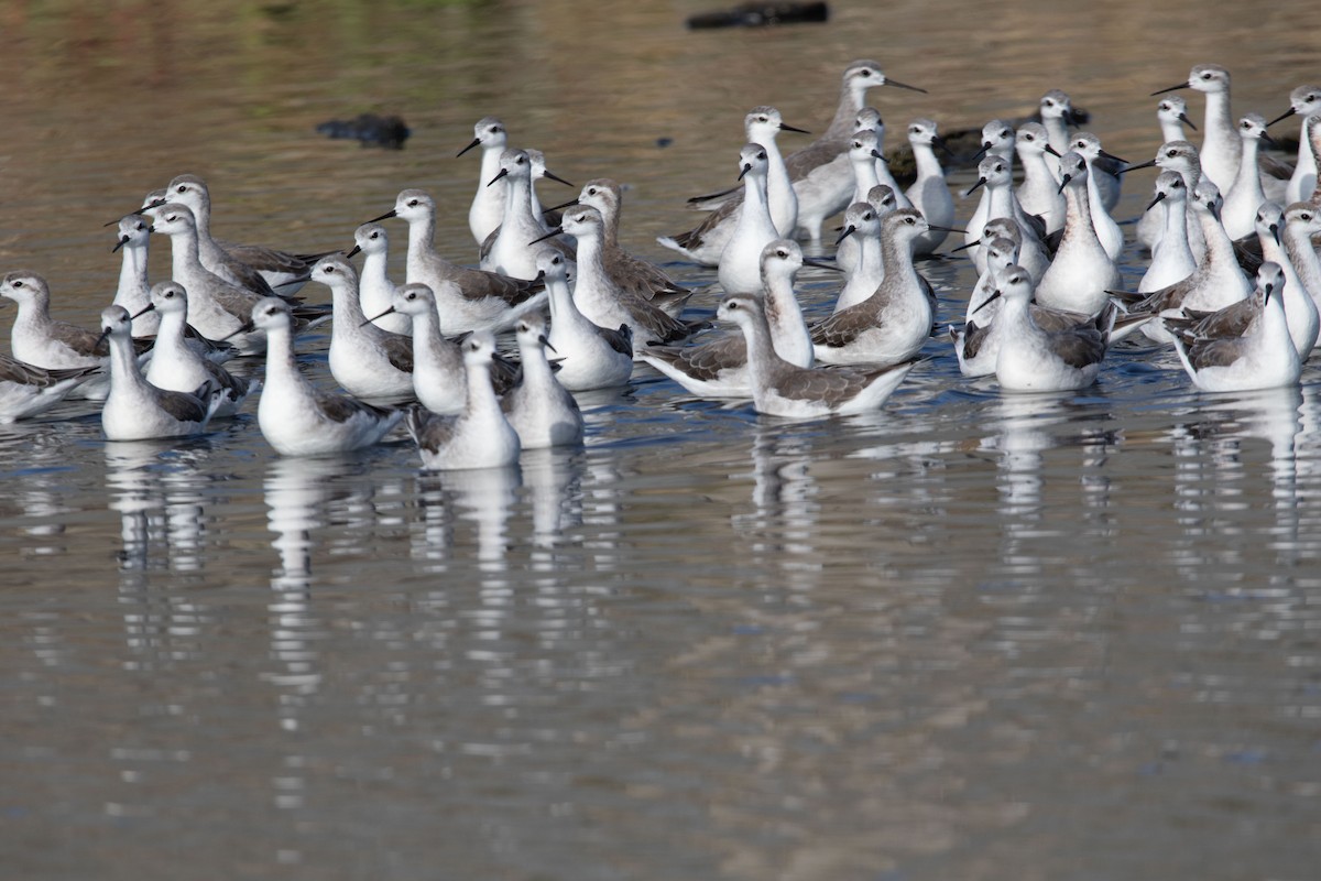
[{"label": "left-facing brown-winged bird behind the rightmost white bird of left cluster", "polygon": [[565,211],[564,221],[551,231],[551,235],[560,232],[568,232],[579,243],[579,275],[573,285],[573,302],[579,312],[601,328],[627,325],[633,332],[634,355],[651,342],[675,342],[701,326],[670,317],[642,296],[620,288],[610,279],[601,254],[605,222],[594,207],[579,205]]}]

